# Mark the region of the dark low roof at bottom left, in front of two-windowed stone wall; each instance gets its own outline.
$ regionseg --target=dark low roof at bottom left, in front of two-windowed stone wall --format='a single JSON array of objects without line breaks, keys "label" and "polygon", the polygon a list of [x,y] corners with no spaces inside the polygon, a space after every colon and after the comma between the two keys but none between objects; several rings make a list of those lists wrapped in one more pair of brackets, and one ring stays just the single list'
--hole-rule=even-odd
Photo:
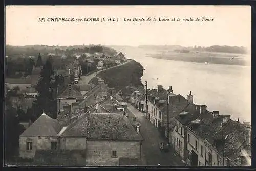
[{"label": "dark low roof at bottom left, in front of two-windowed stone wall", "polygon": [[[82,162],[81,162],[82,160]],[[34,163],[38,166],[82,166],[86,165],[85,150],[36,150]],[[83,164],[82,164],[83,163]]]}]

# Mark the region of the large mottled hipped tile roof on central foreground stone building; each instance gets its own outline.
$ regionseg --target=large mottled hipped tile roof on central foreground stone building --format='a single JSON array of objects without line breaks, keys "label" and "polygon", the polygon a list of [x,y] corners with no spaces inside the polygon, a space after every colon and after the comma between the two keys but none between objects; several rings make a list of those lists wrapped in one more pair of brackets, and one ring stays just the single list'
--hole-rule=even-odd
[{"label": "large mottled hipped tile roof on central foreground stone building", "polygon": [[63,133],[63,136],[86,136],[87,139],[106,140],[112,135],[117,135],[118,140],[143,140],[126,116],[115,113],[87,113]]}]

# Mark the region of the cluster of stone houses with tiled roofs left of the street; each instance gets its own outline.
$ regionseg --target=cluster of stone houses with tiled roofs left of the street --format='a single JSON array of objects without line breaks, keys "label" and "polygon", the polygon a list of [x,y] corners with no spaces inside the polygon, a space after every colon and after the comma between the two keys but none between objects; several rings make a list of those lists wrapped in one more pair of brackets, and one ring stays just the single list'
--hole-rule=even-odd
[{"label": "cluster of stone houses with tiled roofs left of the street", "polygon": [[143,165],[139,127],[127,117],[127,103],[104,85],[99,79],[84,96],[73,84],[61,90],[57,119],[43,112],[20,135],[19,156],[40,166]]}]

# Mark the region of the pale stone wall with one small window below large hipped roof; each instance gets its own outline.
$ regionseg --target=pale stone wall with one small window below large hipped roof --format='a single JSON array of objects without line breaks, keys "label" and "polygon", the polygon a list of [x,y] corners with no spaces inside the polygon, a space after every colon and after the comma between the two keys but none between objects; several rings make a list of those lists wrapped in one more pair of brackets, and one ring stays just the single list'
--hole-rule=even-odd
[{"label": "pale stone wall with one small window below large hipped roof", "polygon": [[[112,151],[116,156],[112,156]],[[133,141],[88,141],[88,166],[118,166],[119,158],[140,158],[140,142]]]}]

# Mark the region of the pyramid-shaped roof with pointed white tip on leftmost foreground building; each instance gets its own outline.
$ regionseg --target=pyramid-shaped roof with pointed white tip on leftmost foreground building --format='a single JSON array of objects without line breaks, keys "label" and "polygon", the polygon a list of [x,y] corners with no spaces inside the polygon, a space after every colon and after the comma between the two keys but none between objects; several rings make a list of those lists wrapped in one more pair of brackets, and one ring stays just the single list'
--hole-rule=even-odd
[{"label": "pyramid-shaped roof with pointed white tip on leftmost foreground building", "polygon": [[58,121],[43,113],[20,136],[57,136],[60,130]]}]

